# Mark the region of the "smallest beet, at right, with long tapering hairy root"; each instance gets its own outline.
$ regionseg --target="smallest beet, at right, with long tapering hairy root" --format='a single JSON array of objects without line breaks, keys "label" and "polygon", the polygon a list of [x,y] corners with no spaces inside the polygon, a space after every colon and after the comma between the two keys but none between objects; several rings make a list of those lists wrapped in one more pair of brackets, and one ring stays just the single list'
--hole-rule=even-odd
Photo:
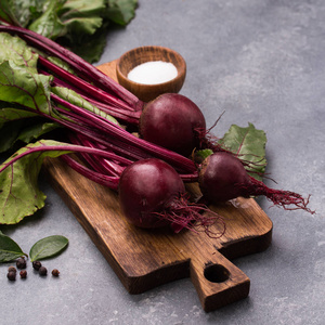
[{"label": "smallest beet, at right, with long tapering hairy root", "polygon": [[286,210],[303,209],[313,213],[307,207],[308,198],[295,192],[269,188],[263,182],[250,177],[239,159],[224,152],[210,155],[202,164],[199,187],[204,197],[212,204],[238,196],[263,195]]}]

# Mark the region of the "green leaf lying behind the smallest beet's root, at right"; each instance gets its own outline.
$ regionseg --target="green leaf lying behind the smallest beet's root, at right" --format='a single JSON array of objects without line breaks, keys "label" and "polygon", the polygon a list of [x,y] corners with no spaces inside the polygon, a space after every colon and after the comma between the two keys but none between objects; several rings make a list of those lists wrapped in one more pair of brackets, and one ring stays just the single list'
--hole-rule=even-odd
[{"label": "green leaf lying behind the smallest beet's root, at right", "polygon": [[252,177],[262,179],[266,167],[264,131],[256,129],[252,123],[247,128],[232,125],[219,143],[247,161],[246,169]]}]

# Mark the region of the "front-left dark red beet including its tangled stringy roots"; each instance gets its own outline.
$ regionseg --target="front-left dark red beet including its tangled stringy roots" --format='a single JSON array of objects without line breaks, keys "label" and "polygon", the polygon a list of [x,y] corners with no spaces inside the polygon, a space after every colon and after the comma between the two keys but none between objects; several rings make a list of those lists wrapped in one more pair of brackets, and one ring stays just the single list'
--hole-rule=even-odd
[{"label": "front-left dark red beet including its tangled stringy roots", "polygon": [[136,226],[171,225],[174,232],[203,229],[211,236],[224,232],[224,227],[220,233],[209,230],[216,221],[222,221],[221,217],[204,205],[190,203],[180,176],[162,160],[143,159],[128,166],[120,177],[118,194],[122,212]]}]

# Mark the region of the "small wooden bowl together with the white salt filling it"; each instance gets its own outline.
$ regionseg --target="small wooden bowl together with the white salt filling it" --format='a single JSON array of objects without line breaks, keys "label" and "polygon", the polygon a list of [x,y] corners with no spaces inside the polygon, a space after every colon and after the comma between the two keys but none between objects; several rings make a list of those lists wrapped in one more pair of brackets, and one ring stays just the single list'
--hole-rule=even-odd
[{"label": "small wooden bowl together with the white salt filling it", "polygon": [[178,93],[181,90],[186,76],[186,63],[171,49],[140,47],[119,57],[116,75],[121,86],[141,101],[150,102],[162,93]]}]

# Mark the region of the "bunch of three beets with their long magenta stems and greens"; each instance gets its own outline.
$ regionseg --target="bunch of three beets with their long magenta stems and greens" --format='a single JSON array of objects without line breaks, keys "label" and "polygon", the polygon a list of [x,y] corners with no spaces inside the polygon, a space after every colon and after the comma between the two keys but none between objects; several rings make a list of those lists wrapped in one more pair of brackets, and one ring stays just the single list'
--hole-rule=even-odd
[{"label": "bunch of three beets with their long magenta stems and greens", "polygon": [[[247,167],[251,167],[247,161],[263,161],[264,157],[251,154],[248,160],[242,159],[240,155],[203,136],[207,134],[205,119],[191,100],[180,94],[165,94],[143,103],[78,55],[22,27],[1,25],[0,42],[3,44],[0,50],[3,120],[38,117],[67,131],[64,142],[43,140],[17,152],[0,167],[0,180],[20,170],[21,161],[26,165],[26,159],[29,164],[37,161],[39,170],[46,153],[52,157],[64,155],[63,159],[80,174],[119,191],[130,222],[154,227],[166,225],[168,221],[174,231],[200,225],[209,233],[210,225],[222,220],[217,213],[203,213],[207,211],[205,205],[191,203],[183,182],[199,181],[207,204],[239,195],[265,195],[285,209],[294,206],[294,209],[313,212],[307,207],[308,198],[294,192],[271,190],[247,174]],[[160,130],[158,127],[165,120],[169,127]],[[129,131],[134,126],[144,139]],[[191,153],[206,148],[208,157],[200,164],[194,162]],[[67,155],[73,152],[80,156]],[[152,187],[150,184],[159,184],[156,187],[160,193],[155,193],[155,197],[152,197],[154,191],[147,191]],[[0,191],[2,211],[10,209],[11,188]],[[135,206],[128,207],[128,202],[136,203],[136,217],[129,212],[134,211]],[[29,207],[27,214],[39,206],[41,203],[34,205],[34,210]],[[26,211],[21,212],[14,222],[24,218],[24,213],[26,216]]]}]

